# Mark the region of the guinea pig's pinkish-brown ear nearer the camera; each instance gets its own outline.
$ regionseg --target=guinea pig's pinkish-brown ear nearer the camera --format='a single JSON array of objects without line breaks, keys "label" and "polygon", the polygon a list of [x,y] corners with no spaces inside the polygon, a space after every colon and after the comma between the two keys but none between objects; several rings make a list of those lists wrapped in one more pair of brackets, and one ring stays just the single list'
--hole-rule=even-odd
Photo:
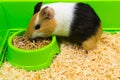
[{"label": "guinea pig's pinkish-brown ear nearer the camera", "polygon": [[42,16],[43,19],[52,19],[54,17],[55,13],[53,8],[46,6],[43,8],[40,12],[40,16]]}]

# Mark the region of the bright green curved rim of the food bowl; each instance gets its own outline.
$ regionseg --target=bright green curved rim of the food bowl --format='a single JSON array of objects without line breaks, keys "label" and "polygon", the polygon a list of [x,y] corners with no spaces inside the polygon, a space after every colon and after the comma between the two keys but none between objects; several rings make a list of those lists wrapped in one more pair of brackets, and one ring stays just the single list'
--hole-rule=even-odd
[{"label": "bright green curved rim of the food bowl", "polygon": [[32,50],[24,50],[24,49],[20,49],[20,48],[17,48],[13,45],[12,41],[13,41],[13,38],[18,35],[19,33],[21,32],[24,32],[25,30],[20,30],[20,31],[17,31],[15,33],[13,33],[9,38],[8,38],[8,46],[11,47],[12,49],[16,50],[16,51],[20,51],[20,52],[37,52],[37,51],[40,51],[40,50],[45,50],[47,49],[48,47],[50,47],[56,40],[55,40],[55,36],[53,35],[51,37],[51,42],[46,45],[46,46],[43,46],[41,48],[37,48],[37,49],[32,49]]}]

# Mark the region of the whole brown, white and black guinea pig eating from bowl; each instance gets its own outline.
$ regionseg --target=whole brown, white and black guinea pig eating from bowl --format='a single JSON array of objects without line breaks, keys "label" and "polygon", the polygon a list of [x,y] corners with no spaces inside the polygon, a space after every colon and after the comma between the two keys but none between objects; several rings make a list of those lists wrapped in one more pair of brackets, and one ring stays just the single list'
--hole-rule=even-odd
[{"label": "whole brown, white and black guinea pig eating from bowl", "polygon": [[93,8],[86,3],[50,3],[34,7],[28,25],[27,38],[69,37],[78,41],[85,50],[96,47],[102,34],[101,21]]}]

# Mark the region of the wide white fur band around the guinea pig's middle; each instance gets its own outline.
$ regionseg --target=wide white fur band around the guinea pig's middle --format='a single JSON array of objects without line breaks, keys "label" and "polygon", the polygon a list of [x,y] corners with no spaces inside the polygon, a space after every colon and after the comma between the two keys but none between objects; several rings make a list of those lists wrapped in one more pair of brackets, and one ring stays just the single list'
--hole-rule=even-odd
[{"label": "wide white fur band around the guinea pig's middle", "polygon": [[45,6],[52,7],[55,12],[57,26],[53,35],[69,36],[75,3],[52,3]]}]

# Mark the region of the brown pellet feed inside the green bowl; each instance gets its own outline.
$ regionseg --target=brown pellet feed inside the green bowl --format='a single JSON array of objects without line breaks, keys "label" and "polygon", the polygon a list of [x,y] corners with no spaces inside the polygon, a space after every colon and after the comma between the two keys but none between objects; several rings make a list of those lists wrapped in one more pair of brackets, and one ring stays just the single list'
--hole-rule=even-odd
[{"label": "brown pellet feed inside the green bowl", "polygon": [[13,38],[13,45],[24,50],[33,50],[42,48],[51,42],[50,38],[37,37],[32,40],[26,39],[24,36],[16,36]]}]

